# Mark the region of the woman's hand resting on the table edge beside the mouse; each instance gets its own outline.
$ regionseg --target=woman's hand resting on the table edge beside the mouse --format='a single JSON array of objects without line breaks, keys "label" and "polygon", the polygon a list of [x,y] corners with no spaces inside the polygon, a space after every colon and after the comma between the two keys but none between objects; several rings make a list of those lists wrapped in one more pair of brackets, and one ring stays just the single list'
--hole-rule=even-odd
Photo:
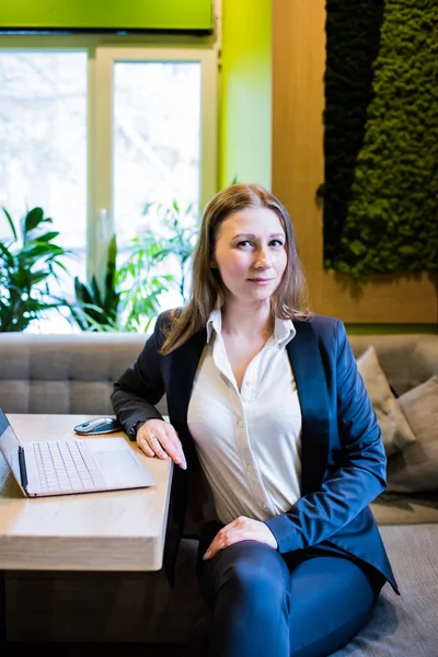
[{"label": "woman's hand resting on the table edge beside the mouse", "polygon": [[183,446],[173,426],[163,419],[148,419],[137,430],[137,445],[148,457],[166,459],[187,469]]}]

